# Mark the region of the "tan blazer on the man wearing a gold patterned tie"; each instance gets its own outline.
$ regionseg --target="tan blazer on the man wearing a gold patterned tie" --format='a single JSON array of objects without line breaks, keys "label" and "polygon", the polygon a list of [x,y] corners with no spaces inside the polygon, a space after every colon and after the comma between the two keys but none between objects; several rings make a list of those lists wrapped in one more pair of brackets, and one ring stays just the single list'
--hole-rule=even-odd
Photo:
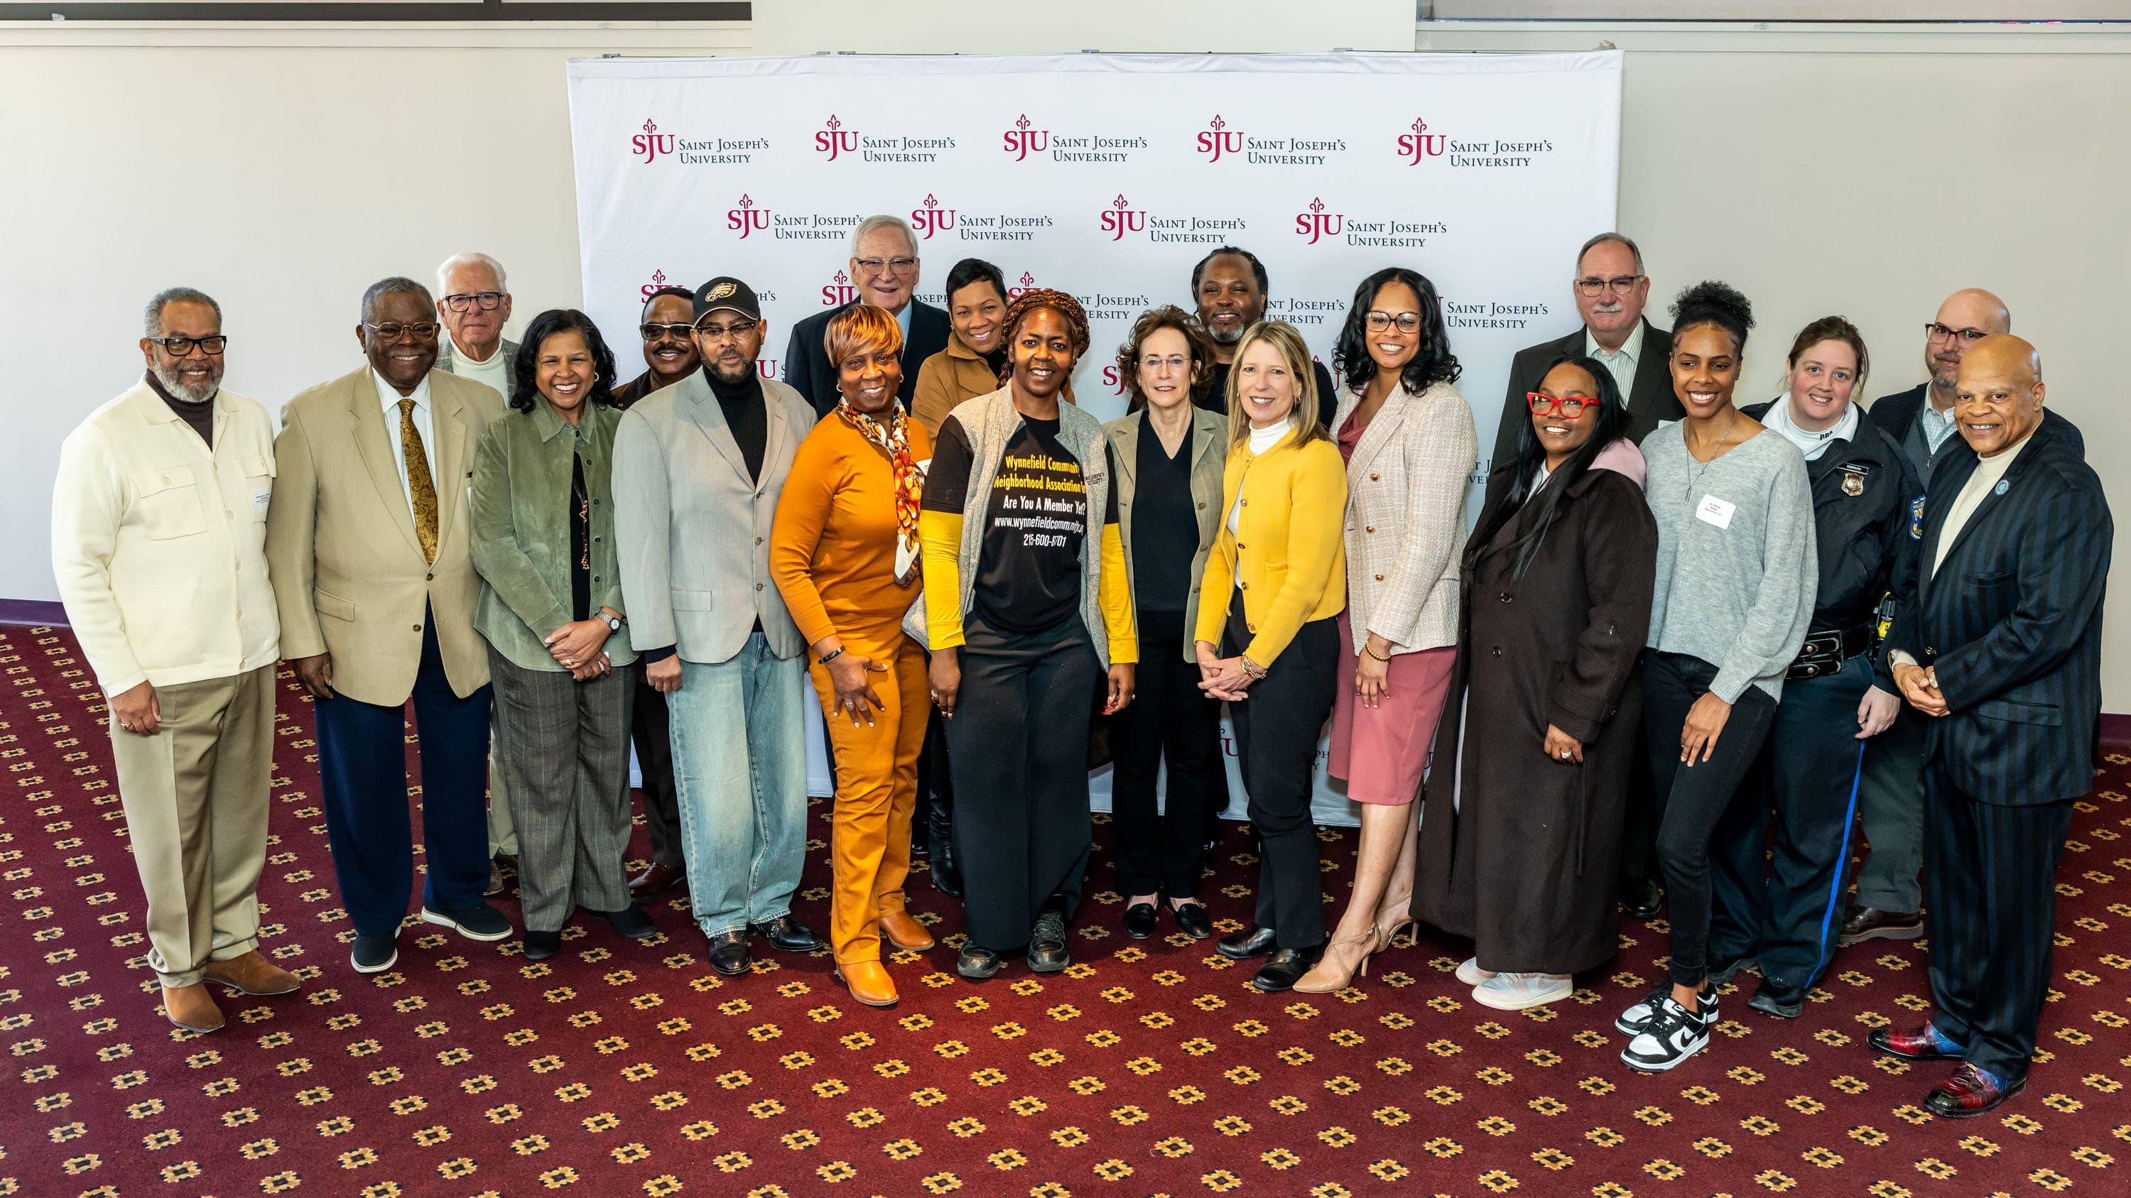
[{"label": "tan blazer on the man wearing a gold patterned tie", "polygon": [[[332,654],[332,689],[396,708],[422,665],[422,622],[452,693],[488,684],[488,642],[473,631],[482,578],[473,571],[469,488],[473,446],[503,396],[477,382],[428,373],[430,482],[437,486],[437,561],[424,561],[413,509],[394,465],[369,362],[281,409],[266,569],[281,610],[281,657]],[[426,612],[426,616],[424,616]]]}]

